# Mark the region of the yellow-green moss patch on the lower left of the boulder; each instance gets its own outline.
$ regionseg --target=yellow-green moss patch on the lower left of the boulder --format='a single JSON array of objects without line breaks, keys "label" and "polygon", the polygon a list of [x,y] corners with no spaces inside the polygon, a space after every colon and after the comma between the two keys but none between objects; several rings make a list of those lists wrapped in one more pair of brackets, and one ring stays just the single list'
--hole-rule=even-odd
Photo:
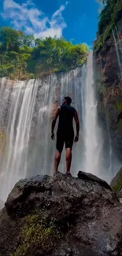
[{"label": "yellow-green moss patch on the lower left of the boulder", "polygon": [[11,256],[45,255],[54,249],[57,239],[60,238],[61,232],[53,223],[47,223],[45,217],[29,215],[21,232],[20,245]]}]

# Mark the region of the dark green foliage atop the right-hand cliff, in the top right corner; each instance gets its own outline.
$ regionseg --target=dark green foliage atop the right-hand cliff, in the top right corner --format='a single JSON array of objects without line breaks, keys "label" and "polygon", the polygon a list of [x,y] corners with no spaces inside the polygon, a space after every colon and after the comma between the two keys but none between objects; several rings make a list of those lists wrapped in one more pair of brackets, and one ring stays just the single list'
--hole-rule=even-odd
[{"label": "dark green foliage atop the right-hand cliff, in the top right corner", "polygon": [[122,1],[121,0],[102,0],[105,8],[100,14],[98,23],[98,40],[94,44],[94,50],[101,50],[105,45],[105,41],[109,39],[112,30],[116,26],[116,22],[122,17]]}]

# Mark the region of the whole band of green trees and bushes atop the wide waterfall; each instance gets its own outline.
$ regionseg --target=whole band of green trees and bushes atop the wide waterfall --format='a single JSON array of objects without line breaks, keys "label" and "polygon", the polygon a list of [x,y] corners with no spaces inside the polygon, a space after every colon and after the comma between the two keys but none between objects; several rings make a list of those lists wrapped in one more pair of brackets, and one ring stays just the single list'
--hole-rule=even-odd
[{"label": "whole band of green trees and bushes atop the wide waterfall", "polygon": [[89,47],[65,39],[35,39],[5,27],[0,29],[0,77],[27,79],[68,71],[86,61]]}]

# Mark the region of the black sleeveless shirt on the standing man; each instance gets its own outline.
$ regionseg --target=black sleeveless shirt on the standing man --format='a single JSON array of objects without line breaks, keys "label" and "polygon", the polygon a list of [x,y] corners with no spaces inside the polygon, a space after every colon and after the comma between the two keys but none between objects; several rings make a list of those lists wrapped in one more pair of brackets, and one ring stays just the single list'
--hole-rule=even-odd
[{"label": "black sleeveless shirt on the standing man", "polygon": [[75,117],[76,109],[67,104],[62,105],[59,112],[59,122],[57,132],[74,132],[73,117]]}]

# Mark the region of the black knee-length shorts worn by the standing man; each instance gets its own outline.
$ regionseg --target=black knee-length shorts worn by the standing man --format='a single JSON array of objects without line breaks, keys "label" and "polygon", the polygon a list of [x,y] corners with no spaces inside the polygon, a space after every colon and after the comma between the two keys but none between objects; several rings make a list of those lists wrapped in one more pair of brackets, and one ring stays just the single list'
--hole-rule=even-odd
[{"label": "black knee-length shorts worn by the standing man", "polygon": [[58,132],[57,131],[57,150],[62,152],[64,143],[65,148],[71,148],[74,141],[74,132]]}]

